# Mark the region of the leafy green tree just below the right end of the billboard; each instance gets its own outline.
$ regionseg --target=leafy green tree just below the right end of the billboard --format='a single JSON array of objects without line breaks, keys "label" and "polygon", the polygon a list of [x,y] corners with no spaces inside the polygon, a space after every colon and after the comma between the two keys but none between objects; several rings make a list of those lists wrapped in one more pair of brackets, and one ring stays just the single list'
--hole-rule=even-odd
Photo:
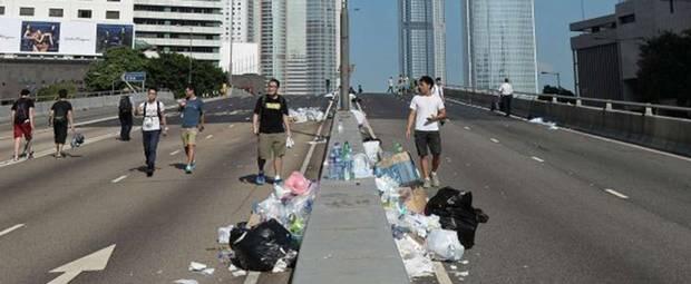
[{"label": "leafy green tree just below the right end of the billboard", "polygon": [[113,82],[116,89],[125,84],[119,81],[124,72],[144,71],[147,59],[138,50],[128,47],[111,48],[106,51],[103,60],[93,62],[87,71],[85,84],[93,91],[110,90]]}]

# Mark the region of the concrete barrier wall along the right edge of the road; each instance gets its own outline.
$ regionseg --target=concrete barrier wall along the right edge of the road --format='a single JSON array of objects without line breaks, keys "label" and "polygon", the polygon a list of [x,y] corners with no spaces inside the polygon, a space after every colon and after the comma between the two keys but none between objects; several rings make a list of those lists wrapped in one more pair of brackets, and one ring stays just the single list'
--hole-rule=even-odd
[{"label": "concrete barrier wall along the right edge of the road", "polygon": [[[490,95],[450,89],[445,95],[484,107],[493,99]],[[516,116],[542,117],[562,127],[691,157],[689,119],[527,99],[514,99],[512,107]]]}]

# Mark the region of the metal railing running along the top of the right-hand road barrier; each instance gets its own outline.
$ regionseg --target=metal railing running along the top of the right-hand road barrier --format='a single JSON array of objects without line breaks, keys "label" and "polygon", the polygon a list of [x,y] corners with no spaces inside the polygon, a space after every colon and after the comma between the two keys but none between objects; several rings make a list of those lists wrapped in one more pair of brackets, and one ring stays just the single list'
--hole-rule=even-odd
[{"label": "metal railing running along the top of the right-hand road barrier", "polygon": [[[460,91],[484,94],[484,95],[492,95],[492,96],[497,96],[499,94],[497,90],[477,89],[477,88],[469,88],[469,87],[456,86],[456,85],[447,85],[445,86],[445,88],[451,89],[451,90],[460,90]],[[584,107],[596,107],[597,105],[601,105],[603,106],[602,108],[605,110],[629,111],[629,112],[642,114],[645,116],[655,115],[655,116],[678,117],[674,115],[668,115],[664,111],[684,112],[685,117],[683,118],[691,118],[691,108],[689,107],[659,105],[659,104],[650,104],[650,102],[625,101],[625,100],[584,98],[584,97],[554,95],[554,94],[514,92],[514,97],[518,99],[542,100],[542,101],[552,101],[554,104],[573,105],[576,107],[583,107],[583,106]],[[545,100],[545,98],[547,99]],[[571,101],[573,101],[573,104],[570,104]],[[621,108],[614,108],[614,106],[620,106]]]}]

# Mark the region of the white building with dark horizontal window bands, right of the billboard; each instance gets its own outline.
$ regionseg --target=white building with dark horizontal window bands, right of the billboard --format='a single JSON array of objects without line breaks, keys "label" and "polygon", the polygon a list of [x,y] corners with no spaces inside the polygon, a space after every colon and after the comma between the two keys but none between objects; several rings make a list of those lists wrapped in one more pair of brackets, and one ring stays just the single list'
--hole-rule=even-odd
[{"label": "white building with dark horizontal window bands, right of the billboard", "polygon": [[136,37],[158,52],[218,63],[227,0],[134,0]]}]

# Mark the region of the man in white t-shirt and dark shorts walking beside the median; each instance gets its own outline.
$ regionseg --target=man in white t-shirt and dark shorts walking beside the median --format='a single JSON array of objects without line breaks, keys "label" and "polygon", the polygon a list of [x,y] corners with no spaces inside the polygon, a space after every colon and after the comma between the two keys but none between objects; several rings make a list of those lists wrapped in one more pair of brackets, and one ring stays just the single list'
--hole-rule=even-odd
[{"label": "man in white t-shirt and dark shorts walking beside the median", "polygon": [[[429,76],[420,78],[417,95],[410,101],[410,115],[406,138],[410,139],[411,129],[415,125],[415,146],[420,157],[420,169],[425,183],[422,187],[440,186],[437,170],[441,165],[441,136],[439,135],[439,121],[446,119],[446,108],[439,96],[432,96],[435,81]],[[431,172],[428,166],[429,153],[432,155]]]}]

